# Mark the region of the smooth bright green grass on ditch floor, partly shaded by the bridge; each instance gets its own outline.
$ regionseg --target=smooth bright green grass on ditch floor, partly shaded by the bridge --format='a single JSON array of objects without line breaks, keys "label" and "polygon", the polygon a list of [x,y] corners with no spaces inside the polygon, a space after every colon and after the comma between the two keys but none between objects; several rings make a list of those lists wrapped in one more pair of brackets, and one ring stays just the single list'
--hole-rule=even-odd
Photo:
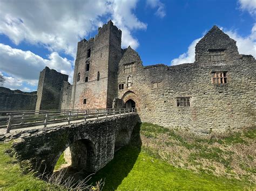
[{"label": "smooth bright green grass on ditch floor, partly shaded by the bridge", "polygon": [[152,158],[137,147],[119,150],[114,159],[92,179],[105,178],[103,190],[241,190],[248,184],[204,173],[176,168],[163,160]]}]

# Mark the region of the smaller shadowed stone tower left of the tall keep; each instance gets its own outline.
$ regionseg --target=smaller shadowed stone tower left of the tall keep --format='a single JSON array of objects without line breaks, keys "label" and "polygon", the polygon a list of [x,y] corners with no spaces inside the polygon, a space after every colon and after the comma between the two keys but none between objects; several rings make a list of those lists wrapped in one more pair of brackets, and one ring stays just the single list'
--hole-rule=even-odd
[{"label": "smaller shadowed stone tower left of the tall keep", "polygon": [[45,67],[39,76],[36,110],[61,108],[60,93],[63,87],[63,81],[67,82],[68,78],[68,75]]}]

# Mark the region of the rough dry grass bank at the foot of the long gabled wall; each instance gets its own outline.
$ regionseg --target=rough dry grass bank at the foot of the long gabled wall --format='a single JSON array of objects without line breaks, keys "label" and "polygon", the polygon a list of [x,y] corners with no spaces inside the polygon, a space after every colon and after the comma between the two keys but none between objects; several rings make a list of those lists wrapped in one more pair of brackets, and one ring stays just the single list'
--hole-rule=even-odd
[{"label": "rough dry grass bank at the foot of the long gabled wall", "polygon": [[256,130],[196,136],[142,123],[143,150],[176,167],[255,183]]}]

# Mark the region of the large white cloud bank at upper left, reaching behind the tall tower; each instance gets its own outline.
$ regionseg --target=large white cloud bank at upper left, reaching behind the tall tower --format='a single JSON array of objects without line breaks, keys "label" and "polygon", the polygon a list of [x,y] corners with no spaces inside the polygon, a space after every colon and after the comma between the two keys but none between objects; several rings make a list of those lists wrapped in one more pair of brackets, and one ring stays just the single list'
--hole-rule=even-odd
[{"label": "large white cloud bank at upper left, reaching behind the tall tower", "polygon": [[131,31],[146,29],[133,13],[136,4],[137,0],[4,0],[0,1],[0,33],[16,45],[26,41],[75,58],[80,38],[97,29],[102,17],[111,16],[124,30],[123,46],[131,44],[136,48],[139,43]]}]

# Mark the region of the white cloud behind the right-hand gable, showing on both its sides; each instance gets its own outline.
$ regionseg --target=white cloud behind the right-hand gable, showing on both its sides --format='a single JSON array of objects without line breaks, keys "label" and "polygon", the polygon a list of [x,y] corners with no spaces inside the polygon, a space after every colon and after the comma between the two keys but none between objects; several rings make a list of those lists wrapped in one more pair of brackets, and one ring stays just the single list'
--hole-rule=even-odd
[{"label": "white cloud behind the right-hand gable, showing on both its sides", "polygon": [[[223,30],[223,27],[221,27],[221,30]],[[256,58],[256,23],[254,23],[254,26],[252,27],[251,34],[247,37],[241,37],[236,31],[223,31],[228,34],[230,38],[237,41],[238,51],[240,54],[251,54],[254,56],[254,58]],[[200,39],[201,38],[194,40],[188,47],[187,52],[179,55],[178,58],[173,59],[171,61],[171,65],[194,62],[194,50]]]}]

